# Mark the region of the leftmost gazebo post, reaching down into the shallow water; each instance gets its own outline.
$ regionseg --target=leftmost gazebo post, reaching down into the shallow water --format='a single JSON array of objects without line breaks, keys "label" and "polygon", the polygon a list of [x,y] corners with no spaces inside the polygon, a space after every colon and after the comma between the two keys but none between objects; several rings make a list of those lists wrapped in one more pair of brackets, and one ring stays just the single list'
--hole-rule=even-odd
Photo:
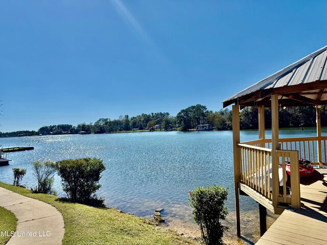
[{"label": "leftmost gazebo post, reaching down into the shallow water", "polygon": [[233,127],[233,158],[234,158],[234,186],[235,186],[235,209],[237,236],[241,237],[240,223],[240,202],[238,182],[241,181],[241,153],[238,143],[240,143],[240,106],[232,106],[232,127]]}]

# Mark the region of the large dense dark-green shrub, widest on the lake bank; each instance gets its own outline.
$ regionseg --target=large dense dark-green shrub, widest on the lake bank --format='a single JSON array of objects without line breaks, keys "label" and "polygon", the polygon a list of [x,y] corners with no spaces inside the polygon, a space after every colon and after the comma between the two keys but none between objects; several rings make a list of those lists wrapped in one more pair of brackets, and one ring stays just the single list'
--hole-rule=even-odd
[{"label": "large dense dark-green shrub, widest on the lake bank", "polygon": [[101,187],[99,180],[105,166],[101,159],[81,158],[56,162],[55,168],[61,177],[63,190],[72,202],[102,206],[96,191]]}]

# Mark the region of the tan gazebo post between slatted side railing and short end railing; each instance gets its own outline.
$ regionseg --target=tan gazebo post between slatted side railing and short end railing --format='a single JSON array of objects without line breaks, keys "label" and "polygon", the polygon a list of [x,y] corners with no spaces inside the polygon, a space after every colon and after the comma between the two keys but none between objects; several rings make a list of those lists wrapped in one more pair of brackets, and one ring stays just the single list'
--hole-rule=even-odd
[{"label": "tan gazebo post between slatted side railing and short end railing", "polygon": [[272,168],[272,206],[274,209],[278,205],[279,195],[279,177],[278,177],[278,163],[279,158],[276,150],[279,149],[279,136],[278,136],[278,95],[271,95],[271,168]]}]

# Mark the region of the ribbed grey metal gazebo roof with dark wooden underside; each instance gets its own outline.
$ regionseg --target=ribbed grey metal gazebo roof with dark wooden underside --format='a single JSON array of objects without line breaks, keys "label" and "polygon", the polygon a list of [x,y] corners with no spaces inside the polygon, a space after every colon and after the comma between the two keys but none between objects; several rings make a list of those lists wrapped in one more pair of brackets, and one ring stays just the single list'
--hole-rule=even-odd
[{"label": "ribbed grey metal gazebo roof with dark wooden underside", "polygon": [[285,106],[327,104],[327,46],[277,71],[260,82],[223,101],[242,106],[270,106],[272,94],[278,94]]}]

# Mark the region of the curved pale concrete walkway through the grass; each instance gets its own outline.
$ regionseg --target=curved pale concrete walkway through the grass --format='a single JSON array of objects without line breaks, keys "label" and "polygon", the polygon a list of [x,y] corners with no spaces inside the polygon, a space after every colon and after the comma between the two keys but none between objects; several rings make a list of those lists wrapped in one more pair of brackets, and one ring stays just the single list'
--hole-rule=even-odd
[{"label": "curved pale concrete walkway through the grass", "polygon": [[13,212],[17,229],[6,245],[58,245],[65,232],[61,213],[53,206],[0,187],[0,206]]}]

